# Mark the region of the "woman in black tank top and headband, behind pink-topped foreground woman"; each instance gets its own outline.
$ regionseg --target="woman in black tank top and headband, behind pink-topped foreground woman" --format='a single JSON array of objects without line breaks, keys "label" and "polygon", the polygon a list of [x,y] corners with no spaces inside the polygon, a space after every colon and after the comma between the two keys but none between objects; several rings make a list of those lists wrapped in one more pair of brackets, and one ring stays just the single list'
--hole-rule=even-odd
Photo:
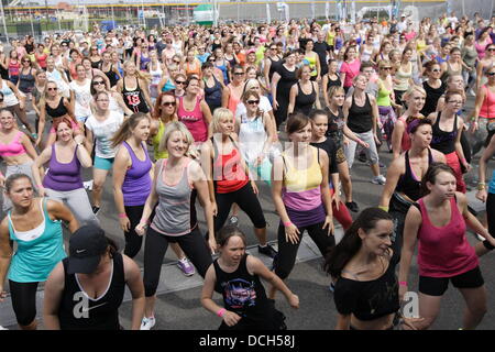
[{"label": "woman in black tank top and headband, behind pink-topped foreground woman", "polygon": [[411,147],[394,160],[387,170],[387,180],[380,200],[380,208],[387,210],[394,218],[395,233],[393,250],[400,254],[404,223],[409,207],[421,195],[421,178],[433,162],[446,163],[446,156],[430,148],[432,123],[428,119],[415,119],[409,122],[407,133]]}]

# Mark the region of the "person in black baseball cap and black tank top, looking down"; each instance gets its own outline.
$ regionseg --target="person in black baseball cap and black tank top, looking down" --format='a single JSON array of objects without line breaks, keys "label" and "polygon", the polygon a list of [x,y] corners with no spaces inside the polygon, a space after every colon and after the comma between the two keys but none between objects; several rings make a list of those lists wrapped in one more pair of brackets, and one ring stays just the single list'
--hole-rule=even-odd
[{"label": "person in black baseball cap and black tank top, looking down", "polygon": [[125,286],[132,294],[132,330],[144,315],[144,285],[139,266],[118,252],[95,226],[70,237],[69,256],[45,284],[44,322],[48,330],[122,330],[119,307]]}]

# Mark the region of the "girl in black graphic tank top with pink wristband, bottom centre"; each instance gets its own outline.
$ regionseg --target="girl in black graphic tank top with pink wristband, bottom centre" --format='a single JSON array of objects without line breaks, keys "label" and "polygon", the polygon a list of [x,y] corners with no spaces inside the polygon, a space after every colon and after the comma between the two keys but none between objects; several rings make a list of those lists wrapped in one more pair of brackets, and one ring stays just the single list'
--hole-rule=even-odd
[{"label": "girl in black graphic tank top with pink wristband, bottom centre", "polygon": [[[299,308],[299,298],[258,258],[245,253],[245,235],[239,228],[227,226],[217,235],[220,255],[205,276],[201,304],[222,319],[219,330],[285,330],[285,316],[266,297],[260,277],[280,290],[293,308]],[[213,290],[222,294],[224,308],[211,299]]]}]

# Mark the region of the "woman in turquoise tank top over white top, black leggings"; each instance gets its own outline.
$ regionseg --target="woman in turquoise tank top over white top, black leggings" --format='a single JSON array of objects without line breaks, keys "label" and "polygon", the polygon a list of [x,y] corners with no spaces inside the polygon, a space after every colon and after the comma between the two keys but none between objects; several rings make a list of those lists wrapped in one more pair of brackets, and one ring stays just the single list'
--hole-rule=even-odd
[{"label": "woman in turquoise tank top over white top, black leggings", "polygon": [[[36,329],[36,290],[66,254],[62,221],[73,233],[79,227],[74,215],[63,204],[34,198],[29,176],[14,174],[6,180],[6,195],[13,209],[0,224],[0,299],[9,277],[10,295],[19,327]],[[18,249],[13,253],[13,241]]]}]

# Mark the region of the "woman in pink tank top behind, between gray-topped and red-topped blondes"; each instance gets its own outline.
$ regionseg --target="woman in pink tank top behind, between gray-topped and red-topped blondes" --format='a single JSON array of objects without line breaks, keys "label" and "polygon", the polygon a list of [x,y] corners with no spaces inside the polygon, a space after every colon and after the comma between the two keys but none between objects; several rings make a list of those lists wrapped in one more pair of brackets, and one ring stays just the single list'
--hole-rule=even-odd
[{"label": "woman in pink tank top behind, between gray-topped and red-topped blondes", "polygon": [[211,111],[206,101],[199,97],[199,79],[190,77],[186,82],[186,95],[178,98],[178,120],[183,122],[196,143],[208,139]]}]

